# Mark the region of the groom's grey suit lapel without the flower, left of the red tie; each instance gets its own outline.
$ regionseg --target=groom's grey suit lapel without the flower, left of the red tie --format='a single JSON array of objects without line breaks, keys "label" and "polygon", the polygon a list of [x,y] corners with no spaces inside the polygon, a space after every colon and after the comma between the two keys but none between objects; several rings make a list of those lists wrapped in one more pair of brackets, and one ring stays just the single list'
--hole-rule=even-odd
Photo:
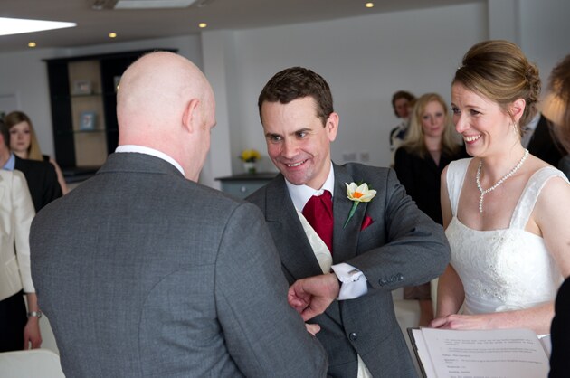
[{"label": "groom's grey suit lapel without the flower, left of the red tie", "polygon": [[322,274],[282,175],[268,184],[265,202],[265,218],[285,269],[294,279]]}]

